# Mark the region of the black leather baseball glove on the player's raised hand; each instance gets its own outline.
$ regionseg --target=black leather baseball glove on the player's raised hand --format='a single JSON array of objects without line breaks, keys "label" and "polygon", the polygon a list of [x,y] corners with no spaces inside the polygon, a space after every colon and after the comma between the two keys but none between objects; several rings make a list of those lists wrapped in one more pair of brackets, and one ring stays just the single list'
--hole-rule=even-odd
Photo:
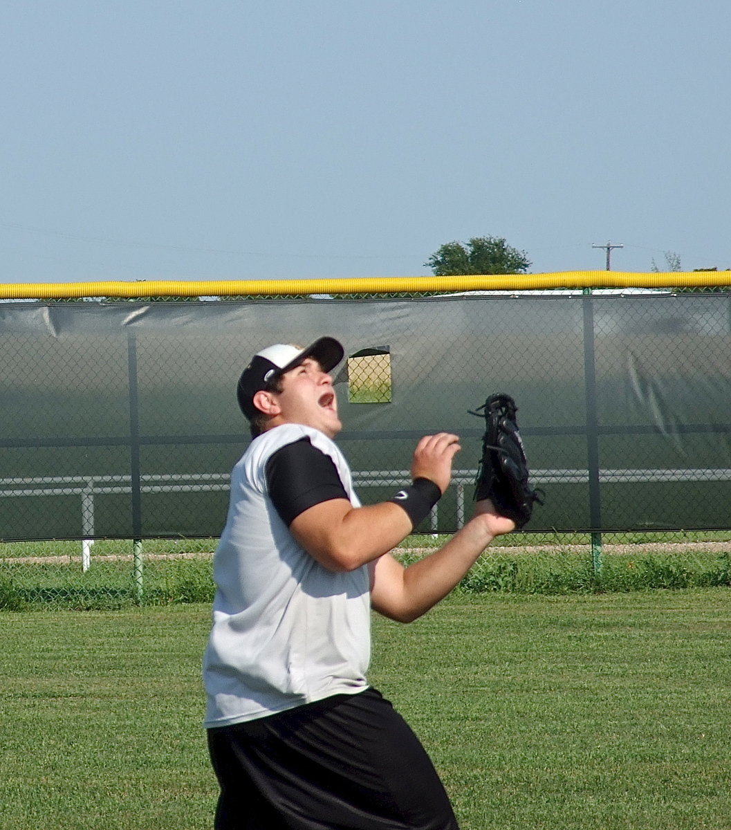
[{"label": "black leather baseball glove on the player's raised hand", "polygon": [[490,395],[470,415],[485,418],[482,457],[475,479],[475,500],[490,499],[500,515],[526,525],[537,501],[543,504],[543,491],[530,486],[528,462],[515,413],[518,408],[509,395]]}]

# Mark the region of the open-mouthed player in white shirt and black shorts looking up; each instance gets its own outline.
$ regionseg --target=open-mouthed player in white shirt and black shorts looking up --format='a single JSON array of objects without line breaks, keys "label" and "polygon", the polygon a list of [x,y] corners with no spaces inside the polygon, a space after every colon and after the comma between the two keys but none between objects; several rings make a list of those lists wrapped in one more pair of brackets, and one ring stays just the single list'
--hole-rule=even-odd
[{"label": "open-mouthed player in white shirt and black shorts looking up", "polygon": [[410,622],[495,536],[489,501],[443,548],[404,568],[389,551],[428,515],[460,445],[422,438],[412,484],[361,506],[334,437],[337,340],[277,344],[238,383],[254,440],[231,475],[204,659],[217,830],[456,830],[412,730],[368,686],[370,610]]}]

